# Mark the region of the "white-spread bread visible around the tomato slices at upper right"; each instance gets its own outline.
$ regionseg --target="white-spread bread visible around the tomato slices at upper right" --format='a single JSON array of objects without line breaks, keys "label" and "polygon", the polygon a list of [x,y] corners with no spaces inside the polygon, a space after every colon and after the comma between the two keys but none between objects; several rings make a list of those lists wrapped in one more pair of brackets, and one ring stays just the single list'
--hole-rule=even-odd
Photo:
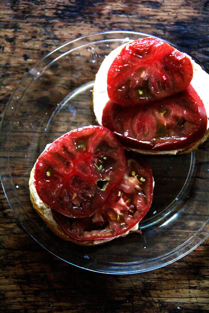
[{"label": "white-spread bread visible around the tomato slices at upper right", "polygon": [[[96,116],[96,120],[99,125],[102,126],[102,112],[106,103],[110,100],[107,94],[107,72],[112,64],[113,60],[121,52],[126,44],[111,51],[110,54],[103,60],[95,78],[94,89],[93,89],[93,110]],[[187,55],[187,54],[186,54]],[[191,59],[189,55],[187,55]],[[209,137],[209,99],[207,95],[207,88],[209,86],[209,74],[204,71],[199,64],[197,64],[193,59],[191,59],[193,67],[193,78],[191,80],[191,85],[196,90],[197,94],[200,96],[207,115],[207,131],[201,140],[197,141],[191,146],[186,146],[185,148],[170,151],[150,151],[150,150],[138,150],[132,149],[130,147],[124,147],[126,150],[134,151],[145,155],[175,155],[175,154],[186,154],[192,151],[196,151],[198,146],[201,145]]]}]

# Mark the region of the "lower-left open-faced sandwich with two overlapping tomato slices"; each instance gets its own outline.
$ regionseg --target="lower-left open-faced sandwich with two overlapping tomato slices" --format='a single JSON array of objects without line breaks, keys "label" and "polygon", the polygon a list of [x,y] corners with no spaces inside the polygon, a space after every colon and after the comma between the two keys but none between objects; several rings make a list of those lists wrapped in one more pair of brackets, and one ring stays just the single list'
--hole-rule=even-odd
[{"label": "lower-left open-faced sandwich with two overlapping tomato slices", "polygon": [[86,126],[46,146],[30,174],[34,209],[59,237],[103,244],[139,232],[149,210],[153,175],[144,159],[127,159],[107,128]]}]

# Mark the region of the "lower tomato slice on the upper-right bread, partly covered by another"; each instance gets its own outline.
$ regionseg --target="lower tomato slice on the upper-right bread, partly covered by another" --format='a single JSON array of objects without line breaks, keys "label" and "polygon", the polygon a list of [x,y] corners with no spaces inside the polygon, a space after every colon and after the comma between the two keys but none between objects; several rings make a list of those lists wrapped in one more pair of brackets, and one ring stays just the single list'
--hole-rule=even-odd
[{"label": "lower tomato slice on the upper-right bread, partly covered by another", "polygon": [[102,125],[115,132],[126,147],[170,151],[200,140],[206,133],[207,115],[190,85],[177,95],[143,107],[125,108],[109,101]]}]

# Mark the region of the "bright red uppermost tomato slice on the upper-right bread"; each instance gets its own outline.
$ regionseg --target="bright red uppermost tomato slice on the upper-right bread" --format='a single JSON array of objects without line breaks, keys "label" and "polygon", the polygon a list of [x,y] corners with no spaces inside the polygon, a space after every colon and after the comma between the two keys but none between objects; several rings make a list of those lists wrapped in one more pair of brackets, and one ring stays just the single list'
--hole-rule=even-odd
[{"label": "bright red uppermost tomato slice on the upper-right bread", "polygon": [[147,105],[184,90],[191,82],[190,59],[156,38],[127,44],[107,74],[110,100],[123,106]]}]

